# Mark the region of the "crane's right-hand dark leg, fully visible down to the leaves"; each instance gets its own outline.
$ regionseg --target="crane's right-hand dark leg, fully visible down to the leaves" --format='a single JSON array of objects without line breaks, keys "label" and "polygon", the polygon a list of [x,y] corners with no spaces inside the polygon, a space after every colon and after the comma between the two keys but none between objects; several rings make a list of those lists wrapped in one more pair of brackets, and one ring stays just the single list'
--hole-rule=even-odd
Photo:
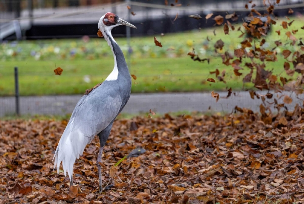
[{"label": "crane's right-hand dark leg, fully visible down to the leaves", "polygon": [[100,142],[100,148],[99,148],[99,153],[98,153],[98,157],[97,157],[97,168],[98,168],[98,177],[99,177],[99,192],[102,192],[102,175],[101,175],[101,156],[102,156],[102,151],[103,151],[103,147],[110,135],[111,129],[112,129],[112,125],[113,125],[113,121],[111,121],[111,123],[98,134],[99,137],[99,142]]}]

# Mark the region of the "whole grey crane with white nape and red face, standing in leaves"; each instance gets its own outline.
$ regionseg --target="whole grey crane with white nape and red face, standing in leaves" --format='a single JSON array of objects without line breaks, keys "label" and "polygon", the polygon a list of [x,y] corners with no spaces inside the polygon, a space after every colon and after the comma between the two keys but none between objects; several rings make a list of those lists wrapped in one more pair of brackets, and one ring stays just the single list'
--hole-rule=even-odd
[{"label": "whole grey crane with white nape and red face, standing in leaves", "polygon": [[125,107],[131,93],[131,76],[124,54],[111,35],[112,28],[126,25],[136,28],[113,13],[106,13],[98,22],[98,27],[111,48],[114,69],[101,85],[84,95],[75,106],[71,118],[60,138],[54,154],[54,169],[62,161],[64,176],[68,173],[70,186],[73,185],[73,166],[87,144],[98,135],[100,148],[97,158],[99,190],[102,191],[101,156],[109,137],[113,121]]}]

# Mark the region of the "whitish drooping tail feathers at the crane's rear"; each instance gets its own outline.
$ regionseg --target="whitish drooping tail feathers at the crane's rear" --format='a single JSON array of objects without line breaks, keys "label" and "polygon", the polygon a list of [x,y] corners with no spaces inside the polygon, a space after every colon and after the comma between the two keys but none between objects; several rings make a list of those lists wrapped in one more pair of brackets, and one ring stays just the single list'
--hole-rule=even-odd
[{"label": "whitish drooping tail feathers at the crane's rear", "polygon": [[54,170],[57,168],[57,174],[59,174],[59,168],[62,161],[64,176],[66,176],[67,172],[68,177],[71,180],[75,160],[83,154],[86,145],[90,142],[91,139],[86,137],[79,130],[71,130],[71,123],[69,123],[60,138],[53,157],[53,160],[55,159]]}]

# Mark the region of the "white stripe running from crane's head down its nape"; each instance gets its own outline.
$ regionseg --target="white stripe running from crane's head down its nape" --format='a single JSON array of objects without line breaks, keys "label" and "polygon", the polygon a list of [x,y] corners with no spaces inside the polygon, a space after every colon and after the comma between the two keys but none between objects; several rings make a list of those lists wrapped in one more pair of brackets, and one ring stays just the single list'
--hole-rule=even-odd
[{"label": "white stripe running from crane's head down its nape", "polygon": [[104,16],[102,16],[99,20],[98,26],[100,31],[102,32],[104,39],[107,41],[109,47],[112,50],[113,56],[114,56],[114,69],[113,71],[108,75],[108,77],[105,79],[106,81],[112,81],[112,80],[117,80],[118,78],[118,67],[117,67],[117,62],[116,62],[116,55],[113,51],[113,46],[111,44],[111,41],[109,38],[111,38],[112,42],[116,43],[115,39],[112,37],[111,35],[111,30],[113,27],[116,27],[118,25],[111,25],[111,26],[106,26],[103,24],[103,18]]}]

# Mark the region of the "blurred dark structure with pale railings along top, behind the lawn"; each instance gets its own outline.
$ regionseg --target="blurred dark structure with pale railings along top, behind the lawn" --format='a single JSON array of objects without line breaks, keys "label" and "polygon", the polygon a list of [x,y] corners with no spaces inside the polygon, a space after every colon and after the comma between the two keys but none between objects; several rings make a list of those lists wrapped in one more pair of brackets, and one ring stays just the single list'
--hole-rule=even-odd
[{"label": "blurred dark structure with pale railings along top, behind the lawn", "polygon": [[[0,40],[1,39],[16,39],[16,32],[14,29],[15,25],[12,25],[13,19],[19,19],[20,22],[20,30],[22,30],[22,38],[23,39],[47,39],[47,38],[78,38],[83,35],[89,35],[90,37],[97,37],[97,22],[99,18],[104,14],[104,12],[116,12],[117,6],[107,7],[105,10],[100,9],[100,11],[95,13],[88,12],[87,14],[75,14],[74,18],[71,18],[69,15],[59,18],[48,19],[44,21],[41,18],[41,15],[44,14],[36,14],[39,11],[50,12],[50,15],[53,15],[52,9],[56,8],[54,11],[54,15],[60,13],[66,8],[69,8],[70,11],[79,11],[84,7],[100,7],[101,5],[106,4],[114,4],[114,3],[123,3],[123,0],[0,0]],[[123,9],[118,9],[120,12],[118,15],[121,17],[125,17],[127,12],[134,12],[136,16],[131,16],[130,22],[137,27],[137,30],[132,30],[132,35],[155,35],[157,33],[169,33],[169,32],[180,32],[198,28],[206,28],[212,27],[214,25],[214,21],[209,19],[206,21],[205,16],[206,12],[194,11],[191,14],[199,14],[203,18],[200,20],[196,20],[193,18],[189,18],[189,11],[174,11],[175,13],[170,13],[170,9],[173,8],[170,4],[175,4],[175,1],[168,0],[169,5],[164,7],[164,0],[132,0],[135,3],[150,4],[148,6],[132,6],[131,10],[127,10],[126,5],[124,5]],[[272,1],[274,2],[274,1]],[[254,1],[257,6],[262,6],[263,1],[258,0]],[[281,0],[280,6],[282,5],[291,5],[291,4],[299,4],[303,3],[303,0]],[[217,12],[217,8],[229,8],[229,11],[234,11],[236,8],[244,8],[245,4],[248,4],[248,1],[243,0],[214,0],[214,1],[202,1],[202,0],[178,0],[178,4],[181,4],[183,7],[198,7],[198,8],[209,8],[212,5],[212,8],[209,10],[209,13],[213,13],[213,16],[216,15],[226,15],[226,10]],[[161,5],[162,8],[153,8],[151,5]],[[181,7],[179,7],[181,8]],[[41,10],[39,10],[41,9]],[[35,10],[35,16],[33,16],[33,10]],[[122,11],[124,13],[122,13]],[[294,14],[304,13],[304,6],[293,8]],[[66,12],[66,10],[64,10]],[[153,15],[158,12],[157,15]],[[168,13],[167,13],[168,12]],[[173,22],[173,19],[178,12],[178,19]],[[236,12],[239,16],[238,22],[243,22],[243,18],[245,18],[249,14],[249,10],[243,10]],[[261,13],[264,13],[262,11]],[[276,16],[286,16],[288,14],[288,9],[275,9]],[[92,16],[95,18],[92,20]],[[135,18],[136,17],[136,18]],[[69,21],[65,21],[70,18]],[[88,18],[88,20],[86,20]],[[28,19],[28,22],[23,23],[24,19]],[[26,25],[25,25],[26,24]],[[23,27],[22,27],[23,26]],[[11,29],[11,32],[5,33],[8,28]],[[11,34],[10,34],[11,33]],[[118,27],[113,29],[113,36],[125,36],[126,30],[123,27]],[[5,37],[2,37],[5,36]]]}]

